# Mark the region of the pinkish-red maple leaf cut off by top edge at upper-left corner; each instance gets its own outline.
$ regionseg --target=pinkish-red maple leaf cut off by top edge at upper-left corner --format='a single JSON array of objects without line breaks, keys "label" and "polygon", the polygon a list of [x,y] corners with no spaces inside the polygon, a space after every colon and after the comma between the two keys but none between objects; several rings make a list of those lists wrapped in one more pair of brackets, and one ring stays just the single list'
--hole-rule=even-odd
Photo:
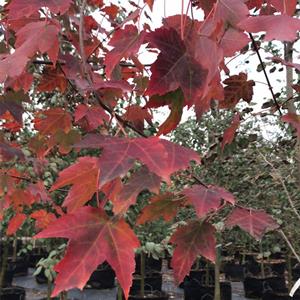
[{"label": "pinkish-red maple leaf cut off by top edge at upper-left corner", "polygon": [[42,7],[48,7],[55,14],[64,14],[73,0],[12,0],[7,6],[10,19],[30,17]]}]

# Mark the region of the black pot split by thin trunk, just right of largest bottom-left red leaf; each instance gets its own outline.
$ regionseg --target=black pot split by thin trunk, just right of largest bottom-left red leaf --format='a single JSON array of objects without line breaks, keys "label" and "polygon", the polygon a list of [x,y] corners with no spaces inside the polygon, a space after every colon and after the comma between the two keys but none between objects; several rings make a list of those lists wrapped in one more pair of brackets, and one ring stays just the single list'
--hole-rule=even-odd
[{"label": "black pot split by thin trunk, just right of largest bottom-left red leaf", "polygon": [[[145,291],[161,291],[162,288],[162,273],[152,272],[145,276]],[[135,275],[130,288],[130,294],[137,294],[141,289],[141,277]]]}]

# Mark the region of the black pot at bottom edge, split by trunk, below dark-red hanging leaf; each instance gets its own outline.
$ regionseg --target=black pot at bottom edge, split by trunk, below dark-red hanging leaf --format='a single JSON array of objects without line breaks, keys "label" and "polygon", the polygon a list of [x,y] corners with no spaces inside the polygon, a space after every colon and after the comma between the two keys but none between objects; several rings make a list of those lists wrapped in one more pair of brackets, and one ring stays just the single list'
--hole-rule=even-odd
[{"label": "black pot at bottom edge, split by trunk, below dark-red hanging leaf", "polygon": [[[231,300],[231,284],[230,282],[220,282],[221,300]],[[215,287],[212,286],[195,286],[186,284],[184,286],[185,300],[213,300]]]}]

